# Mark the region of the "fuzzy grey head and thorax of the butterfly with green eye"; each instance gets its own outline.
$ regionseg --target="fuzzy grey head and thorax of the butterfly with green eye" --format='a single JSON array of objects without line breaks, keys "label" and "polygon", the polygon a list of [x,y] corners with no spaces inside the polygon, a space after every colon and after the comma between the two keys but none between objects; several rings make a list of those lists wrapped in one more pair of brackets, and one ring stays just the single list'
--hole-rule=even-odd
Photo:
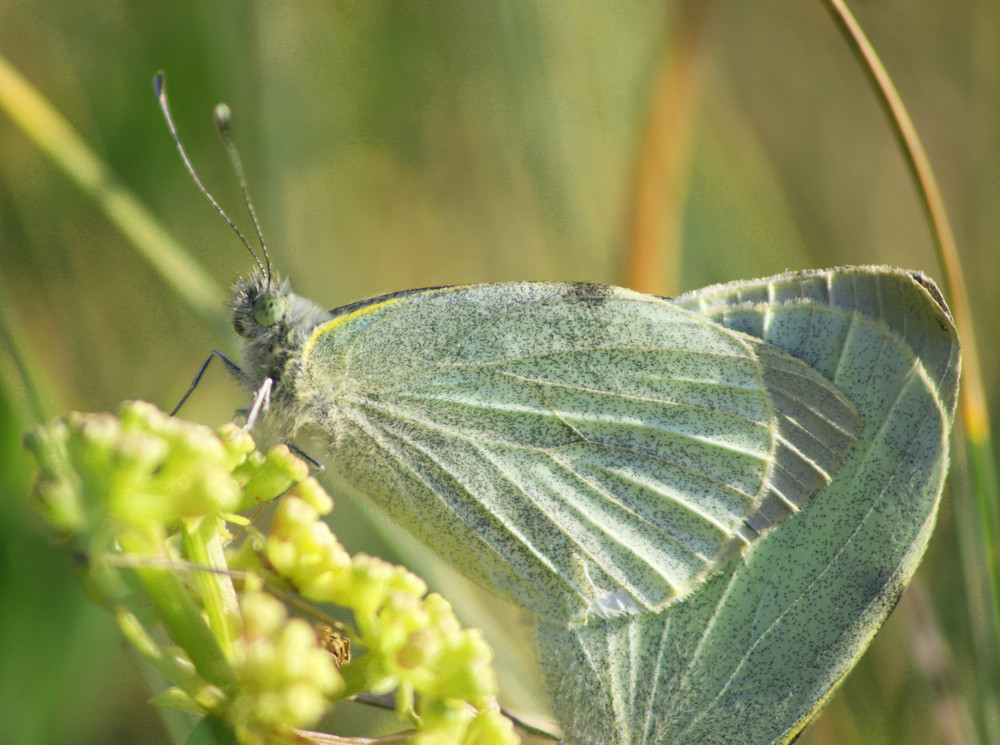
[{"label": "fuzzy grey head and thorax of the butterfly with green eye", "polygon": [[243,384],[256,392],[272,381],[269,428],[292,438],[302,420],[303,397],[296,391],[302,348],[313,329],[330,313],[291,292],[287,281],[260,272],[240,277],[233,287],[233,328],[243,338]]}]

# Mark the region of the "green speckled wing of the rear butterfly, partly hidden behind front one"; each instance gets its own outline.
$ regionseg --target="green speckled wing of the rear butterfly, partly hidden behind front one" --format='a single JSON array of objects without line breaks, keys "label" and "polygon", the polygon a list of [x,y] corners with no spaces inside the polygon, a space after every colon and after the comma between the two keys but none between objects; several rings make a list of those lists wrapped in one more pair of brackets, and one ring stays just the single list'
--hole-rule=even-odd
[{"label": "green speckled wing of the rear butterfly, partly hidden behind front one", "polygon": [[851,669],[923,555],[947,470],[959,345],[937,289],[885,267],[677,299],[818,370],[864,429],[830,485],[658,612],[539,621],[577,745],[787,743]]}]

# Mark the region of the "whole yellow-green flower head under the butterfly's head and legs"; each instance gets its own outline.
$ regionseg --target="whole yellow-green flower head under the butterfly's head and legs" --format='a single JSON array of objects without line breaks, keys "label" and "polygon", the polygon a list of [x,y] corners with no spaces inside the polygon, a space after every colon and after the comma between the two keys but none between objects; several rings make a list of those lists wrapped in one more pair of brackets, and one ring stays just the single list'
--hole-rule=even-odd
[{"label": "whole yellow-green flower head under the butterfly's head and legs", "polygon": [[[350,556],[321,519],[332,500],[287,447],[263,455],[234,426],[213,433],[143,402],[117,416],[71,414],[25,444],[41,467],[43,516],[84,546],[94,590],[173,684],[157,697],[164,705],[260,743],[294,739],[292,728],[315,724],[333,700],[395,690],[414,743],[516,742],[479,632],[405,569]],[[234,514],[285,492],[266,536]],[[227,522],[247,526],[249,540],[234,549]],[[289,617],[256,578],[265,574],[349,608],[357,628],[341,630],[365,653],[338,669],[347,657],[335,660],[309,623]],[[150,609],[169,645],[146,628]]]}]

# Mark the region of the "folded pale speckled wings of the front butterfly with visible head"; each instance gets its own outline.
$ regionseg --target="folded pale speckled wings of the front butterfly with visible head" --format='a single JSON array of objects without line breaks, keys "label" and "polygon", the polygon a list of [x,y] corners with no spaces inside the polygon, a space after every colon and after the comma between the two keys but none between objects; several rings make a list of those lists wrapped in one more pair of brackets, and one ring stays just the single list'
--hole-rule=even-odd
[{"label": "folded pale speckled wings of the front butterfly with visible head", "polygon": [[861,429],[802,360],[699,309],[518,283],[313,332],[329,465],[453,566],[560,623],[683,598],[806,506]]}]

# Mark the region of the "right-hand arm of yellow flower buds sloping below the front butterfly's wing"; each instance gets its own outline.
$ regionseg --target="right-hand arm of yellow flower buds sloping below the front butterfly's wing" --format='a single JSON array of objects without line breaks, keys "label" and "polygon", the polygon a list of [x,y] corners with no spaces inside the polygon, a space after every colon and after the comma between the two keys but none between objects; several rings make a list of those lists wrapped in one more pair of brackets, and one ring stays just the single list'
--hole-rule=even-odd
[{"label": "right-hand arm of yellow flower buds sloping below the front butterfly's wing", "polygon": [[414,742],[513,743],[495,707],[493,653],[476,629],[463,629],[451,605],[416,575],[381,559],[351,557],[320,516],[315,499],[289,495],[267,539],[271,566],[303,597],[354,611],[368,655],[365,690],[396,690],[414,716]]}]

